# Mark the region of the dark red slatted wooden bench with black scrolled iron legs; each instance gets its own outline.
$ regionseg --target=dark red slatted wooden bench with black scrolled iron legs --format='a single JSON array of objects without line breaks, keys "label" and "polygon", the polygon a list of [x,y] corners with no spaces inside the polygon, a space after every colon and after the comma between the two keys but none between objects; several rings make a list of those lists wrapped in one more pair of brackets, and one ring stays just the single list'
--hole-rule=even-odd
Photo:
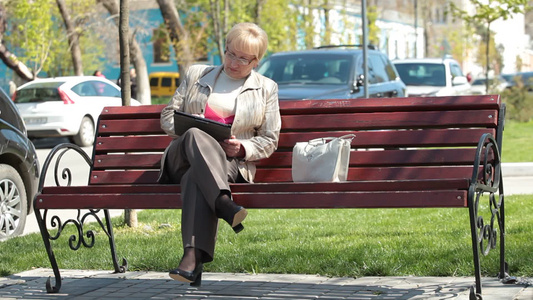
[{"label": "dark red slatted wooden bench with black scrolled iron legs", "polygon": [[[424,208],[464,207],[470,215],[474,254],[475,292],[481,297],[480,253],[496,246],[499,227],[500,273],[505,262],[504,196],[499,149],[502,144],[505,105],[497,95],[428,98],[282,101],[279,149],[258,163],[255,184],[234,184],[235,201],[246,208]],[[156,183],[162,151],[171,141],[160,129],[163,105],[108,107],[98,121],[93,156],[72,144],[53,149],[43,165],[34,209],[55,275],[59,268],[49,233],[53,221],[49,209],[103,209],[101,222],[111,246],[116,272],[118,263],[113,228],[107,209],[178,209],[178,185]],[[291,182],[292,147],[296,142],[325,136],[356,134],[352,142],[348,181],[342,183]],[[70,185],[70,173],[55,168],[55,176],[67,183],[43,186],[46,172],[56,157],[77,151],[90,165],[86,186]],[[490,197],[491,210],[484,222],[481,194]],[[275,197],[273,196],[275,194]],[[146,199],[150,201],[146,201]],[[88,214],[89,214],[88,213]],[[71,248],[92,247],[94,236],[84,231],[84,218],[55,222],[51,230],[76,224],[79,236]],[[465,230],[467,230],[465,224]],[[52,226],[53,227],[53,226]],[[84,237],[85,235],[85,237]]]}]

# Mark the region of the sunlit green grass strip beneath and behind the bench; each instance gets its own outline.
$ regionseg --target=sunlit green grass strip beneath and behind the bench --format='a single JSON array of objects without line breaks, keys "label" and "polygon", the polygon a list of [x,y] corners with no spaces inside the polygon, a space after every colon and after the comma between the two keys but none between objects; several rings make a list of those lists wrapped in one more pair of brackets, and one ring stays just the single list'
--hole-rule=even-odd
[{"label": "sunlit green grass strip beneath and behind the bench", "polygon": [[[532,214],[533,195],[506,197],[506,256],[514,276],[533,276]],[[130,270],[175,268],[182,255],[180,211],[145,210],[138,217],[134,229],[114,219],[119,257]],[[221,223],[207,272],[473,276],[467,209],[252,209],[245,227],[236,235]],[[110,270],[107,238],[97,231],[92,249],[70,250],[66,232],[53,241],[60,268]],[[498,249],[482,257],[484,276],[496,275],[498,258]],[[0,243],[2,275],[37,267],[50,267],[39,234]]]}]

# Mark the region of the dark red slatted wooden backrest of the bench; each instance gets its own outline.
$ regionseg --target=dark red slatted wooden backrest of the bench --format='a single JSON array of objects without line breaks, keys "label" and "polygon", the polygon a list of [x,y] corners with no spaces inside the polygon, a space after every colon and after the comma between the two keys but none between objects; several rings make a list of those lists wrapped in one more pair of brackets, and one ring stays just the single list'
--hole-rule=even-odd
[{"label": "dark red slatted wooden backrest of the bench", "polygon": [[[494,95],[282,101],[279,147],[258,162],[256,181],[291,181],[295,143],[348,133],[349,180],[469,179],[479,138],[501,126],[500,105]],[[164,106],[103,110],[90,184],[155,183],[171,141],[160,128]]]}]

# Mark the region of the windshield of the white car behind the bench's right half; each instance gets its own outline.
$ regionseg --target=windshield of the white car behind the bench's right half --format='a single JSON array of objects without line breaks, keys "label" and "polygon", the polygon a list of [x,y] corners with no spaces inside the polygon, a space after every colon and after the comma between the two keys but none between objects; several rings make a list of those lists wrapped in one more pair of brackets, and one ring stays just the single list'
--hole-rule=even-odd
[{"label": "windshield of the white car behind the bench's right half", "polygon": [[446,86],[444,64],[396,63],[395,66],[406,85]]}]

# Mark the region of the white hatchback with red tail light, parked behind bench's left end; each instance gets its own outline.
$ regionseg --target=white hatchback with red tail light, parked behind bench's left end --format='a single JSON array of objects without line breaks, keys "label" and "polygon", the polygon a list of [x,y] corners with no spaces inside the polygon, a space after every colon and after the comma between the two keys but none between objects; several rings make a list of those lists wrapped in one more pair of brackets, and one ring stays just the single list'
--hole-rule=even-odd
[{"label": "white hatchback with red tail light, parked behind bench's left end", "polygon": [[[36,79],[13,95],[28,137],[67,136],[86,147],[94,142],[95,125],[105,106],[121,106],[120,87],[96,76]],[[140,105],[132,99],[131,105]]]}]

